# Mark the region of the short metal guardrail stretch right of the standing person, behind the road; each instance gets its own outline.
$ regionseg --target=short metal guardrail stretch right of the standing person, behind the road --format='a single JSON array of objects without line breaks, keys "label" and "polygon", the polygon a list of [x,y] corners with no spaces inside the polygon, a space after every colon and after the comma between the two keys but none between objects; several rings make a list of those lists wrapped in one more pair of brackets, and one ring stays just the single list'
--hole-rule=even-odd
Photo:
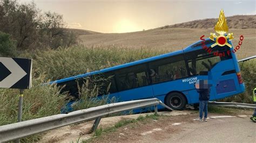
[{"label": "short metal guardrail stretch right of the standing person, behind the road", "polygon": [[209,101],[210,106],[220,106],[220,107],[240,107],[240,108],[251,108],[255,109],[256,104],[247,104],[247,103],[233,103],[233,102],[215,102]]}]

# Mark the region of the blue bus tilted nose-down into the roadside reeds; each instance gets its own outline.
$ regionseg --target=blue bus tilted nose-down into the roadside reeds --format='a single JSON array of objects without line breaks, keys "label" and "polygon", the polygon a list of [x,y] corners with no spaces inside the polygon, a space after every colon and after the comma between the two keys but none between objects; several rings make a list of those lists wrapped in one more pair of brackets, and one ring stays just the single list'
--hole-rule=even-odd
[{"label": "blue bus tilted nose-down into the roadside reeds", "polygon": [[[210,39],[205,40],[207,47],[213,43]],[[232,45],[231,41],[229,43]],[[158,98],[174,110],[183,110],[186,104],[199,102],[194,83],[200,79],[211,81],[211,101],[244,92],[245,84],[233,47],[214,46],[208,52],[202,45],[200,40],[180,51],[63,78],[50,84],[66,85],[63,90],[78,98],[77,86],[85,77],[110,77],[110,80],[102,81],[100,95],[109,94],[109,98],[116,97],[118,102]],[[221,55],[216,56],[214,52]],[[207,75],[201,74],[205,71]],[[107,89],[108,93],[105,92]]]}]

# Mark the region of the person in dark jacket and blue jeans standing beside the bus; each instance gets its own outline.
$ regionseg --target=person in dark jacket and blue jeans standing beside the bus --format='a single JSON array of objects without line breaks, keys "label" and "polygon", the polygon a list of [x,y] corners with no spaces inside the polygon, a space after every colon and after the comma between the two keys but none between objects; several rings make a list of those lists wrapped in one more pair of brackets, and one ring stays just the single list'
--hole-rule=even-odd
[{"label": "person in dark jacket and blue jeans standing beside the bus", "polygon": [[[210,85],[207,80],[199,80],[195,84],[199,93],[199,118],[198,121],[207,121],[208,101],[210,99]],[[203,118],[204,112],[204,118]]]}]

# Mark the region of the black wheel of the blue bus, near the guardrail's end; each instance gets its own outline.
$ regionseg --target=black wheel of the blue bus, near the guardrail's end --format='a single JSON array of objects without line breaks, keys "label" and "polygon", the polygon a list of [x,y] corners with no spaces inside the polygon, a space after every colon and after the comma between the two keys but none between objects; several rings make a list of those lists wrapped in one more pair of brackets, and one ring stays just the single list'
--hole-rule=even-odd
[{"label": "black wheel of the blue bus, near the guardrail's end", "polygon": [[165,104],[174,110],[183,110],[186,105],[186,98],[178,92],[173,92],[167,95]]}]

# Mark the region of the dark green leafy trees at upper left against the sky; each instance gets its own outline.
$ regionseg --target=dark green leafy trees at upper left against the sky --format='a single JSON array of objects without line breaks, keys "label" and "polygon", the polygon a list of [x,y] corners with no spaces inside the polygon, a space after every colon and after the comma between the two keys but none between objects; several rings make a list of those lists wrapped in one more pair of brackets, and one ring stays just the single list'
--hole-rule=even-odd
[{"label": "dark green leafy trees at upper left against the sky", "polygon": [[77,44],[77,35],[65,27],[62,15],[42,12],[33,2],[3,0],[0,2],[0,56],[15,56],[26,49]]}]

